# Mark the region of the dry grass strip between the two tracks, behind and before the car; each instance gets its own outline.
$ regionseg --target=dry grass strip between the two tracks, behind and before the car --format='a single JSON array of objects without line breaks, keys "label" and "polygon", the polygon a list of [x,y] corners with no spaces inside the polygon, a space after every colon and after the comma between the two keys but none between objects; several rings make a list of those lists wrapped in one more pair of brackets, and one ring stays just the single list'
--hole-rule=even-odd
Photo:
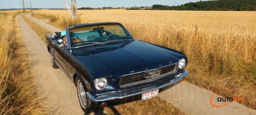
[{"label": "dry grass strip between the two tracks, behind and before the car", "polygon": [[[46,34],[49,34],[48,30],[41,27],[37,23],[26,18],[25,15],[22,16],[28,25],[39,35],[42,40],[45,40]],[[145,106],[147,105],[147,106]],[[148,106],[150,105],[150,106]],[[107,107],[105,108],[110,115],[115,115],[117,113],[121,115],[185,115],[178,108],[167,103],[165,100],[160,97],[151,98],[145,101],[135,101],[119,106]],[[148,113],[151,112],[151,113]],[[154,113],[153,113],[154,112]]]}]

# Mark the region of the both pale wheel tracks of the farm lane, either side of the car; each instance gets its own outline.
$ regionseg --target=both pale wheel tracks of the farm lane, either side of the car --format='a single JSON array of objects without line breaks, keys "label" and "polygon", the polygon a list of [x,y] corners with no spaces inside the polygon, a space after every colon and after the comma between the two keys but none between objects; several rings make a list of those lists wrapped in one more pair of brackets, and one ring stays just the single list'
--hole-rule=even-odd
[{"label": "both pale wheel tracks of the farm lane, either side of the car", "polygon": [[[46,29],[55,32],[62,31],[45,23],[45,20],[36,19],[27,15],[27,18],[33,20],[37,24]],[[18,20],[22,28],[22,33],[30,50],[30,58],[35,61],[33,71],[38,76],[38,83],[41,84],[41,91],[44,96],[48,97],[50,106],[55,106],[58,112],[82,114],[77,100],[76,89],[72,82],[64,75],[60,69],[53,69],[50,64],[49,54],[46,51],[45,44],[40,40],[36,33],[27,25],[27,23],[19,16]],[[162,93],[160,97],[179,108],[186,114],[192,115],[256,115],[256,110],[247,108],[236,102],[230,102],[227,106],[220,108],[210,105],[211,91],[196,87],[190,83],[182,82],[177,86],[170,88]],[[213,104],[221,105],[217,102],[217,95],[212,99]],[[222,104],[225,104],[224,102]],[[54,109],[54,110],[55,110]],[[63,112],[64,114],[67,114]]]}]

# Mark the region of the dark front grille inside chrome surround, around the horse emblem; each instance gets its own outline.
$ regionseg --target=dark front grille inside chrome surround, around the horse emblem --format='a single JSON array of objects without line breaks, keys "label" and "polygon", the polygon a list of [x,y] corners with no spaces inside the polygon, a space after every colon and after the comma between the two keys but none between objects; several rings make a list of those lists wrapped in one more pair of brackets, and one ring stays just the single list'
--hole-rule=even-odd
[{"label": "dark front grille inside chrome surround, around the horse emblem", "polygon": [[[156,71],[156,70],[160,70],[159,76],[155,76],[150,79],[144,78],[145,73],[151,72],[151,71]],[[168,65],[168,66],[165,66],[165,67],[162,67],[159,69],[155,69],[155,70],[151,70],[151,71],[144,71],[144,72],[139,72],[139,73],[135,73],[135,74],[131,74],[131,75],[122,76],[120,79],[120,86],[127,87],[127,86],[131,86],[131,85],[139,84],[139,83],[148,82],[151,80],[155,80],[155,79],[164,77],[165,75],[172,74],[176,70],[177,70],[177,64],[172,64],[172,65]]]}]

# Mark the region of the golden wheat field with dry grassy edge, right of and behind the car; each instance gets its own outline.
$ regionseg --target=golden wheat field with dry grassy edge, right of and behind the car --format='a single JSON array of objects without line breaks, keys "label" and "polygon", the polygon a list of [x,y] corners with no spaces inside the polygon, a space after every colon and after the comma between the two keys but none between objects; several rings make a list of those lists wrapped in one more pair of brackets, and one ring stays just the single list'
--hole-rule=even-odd
[{"label": "golden wheat field with dry grassy edge, right of and behind the car", "polygon": [[[256,108],[256,12],[78,10],[79,21],[67,10],[37,10],[35,17],[64,29],[74,23],[121,22],[138,40],[185,53],[187,81],[213,91],[228,89]],[[46,17],[45,17],[46,18]],[[67,23],[68,22],[68,23]],[[222,92],[229,94],[230,92]]]}]

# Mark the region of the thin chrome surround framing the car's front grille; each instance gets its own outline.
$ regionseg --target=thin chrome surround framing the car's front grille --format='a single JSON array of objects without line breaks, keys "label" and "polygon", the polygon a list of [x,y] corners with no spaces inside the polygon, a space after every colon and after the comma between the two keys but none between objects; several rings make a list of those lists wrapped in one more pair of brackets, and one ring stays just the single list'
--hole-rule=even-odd
[{"label": "thin chrome surround framing the car's front grille", "polygon": [[[177,62],[177,63],[178,63],[178,62]],[[153,81],[153,80],[157,80],[157,79],[163,78],[163,77],[165,77],[165,76],[167,76],[167,75],[173,74],[173,73],[175,73],[175,72],[178,71],[178,64],[177,64],[177,63],[170,64],[170,65],[174,65],[174,64],[175,64],[174,71],[170,71],[170,72],[168,72],[168,73],[165,73],[165,74],[162,74],[162,75],[159,75],[159,76],[157,76],[157,77],[150,78],[150,79],[147,79],[147,80],[141,80],[141,81],[137,81],[137,82],[133,82],[133,83],[128,83],[128,84],[125,84],[125,85],[120,85],[120,84],[121,84],[121,79],[122,79],[122,77],[124,77],[124,76],[133,75],[133,74],[137,74],[137,73],[143,73],[143,72],[147,72],[147,71],[155,71],[155,70],[158,70],[158,69],[161,69],[161,68],[170,66],[170,65],[166,65],[166,66],[164,66],[164,67],[157,68],[157,69],[153,69],[153,70],[147,70],[147,71],[141,71],[141,72],[132,73],[132,74],[128,74],[128,75],[123,75],[123,76],[121,76],[121,78],[120,78],[120,80],[119,80],[119,85],[120,85],[121,88],[124,88],[124,87],[133,86],[133,85],[137,85],[137,84],[141,84],[141,83],[146,83],[146,82],[150,82],[150,81]]]}]

